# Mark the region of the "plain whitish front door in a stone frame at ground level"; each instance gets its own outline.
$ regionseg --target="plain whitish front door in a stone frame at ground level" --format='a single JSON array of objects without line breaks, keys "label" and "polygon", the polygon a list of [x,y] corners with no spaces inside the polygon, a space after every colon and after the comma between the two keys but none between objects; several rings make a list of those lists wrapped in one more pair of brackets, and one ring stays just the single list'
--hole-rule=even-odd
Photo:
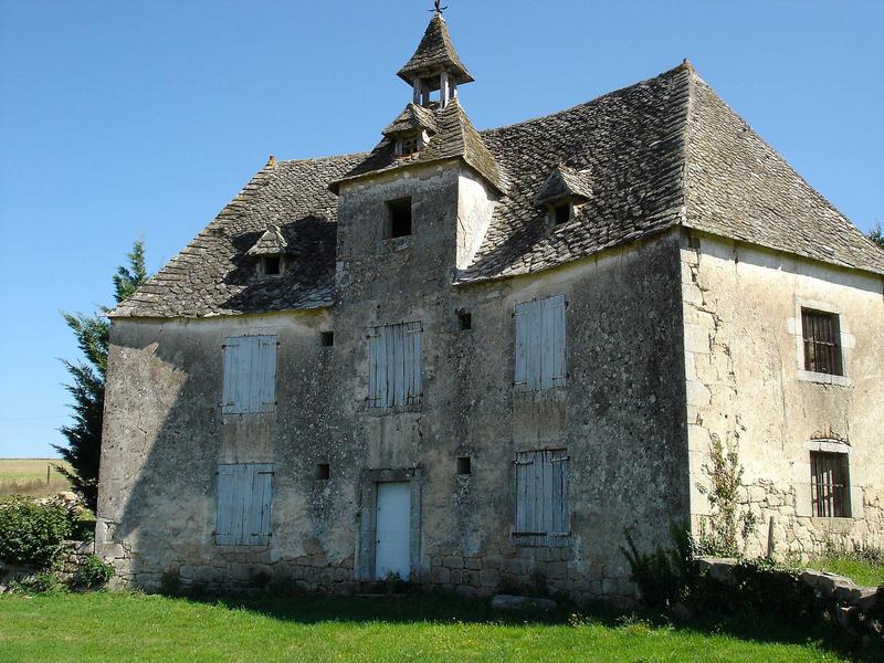
[{"label": "plain whitish front door in a stone frame at ground level", "polygon": [[411,570],[411,488],[408,482],[378,484],[375,541],[375,578],[397,575],[409,579]]}]

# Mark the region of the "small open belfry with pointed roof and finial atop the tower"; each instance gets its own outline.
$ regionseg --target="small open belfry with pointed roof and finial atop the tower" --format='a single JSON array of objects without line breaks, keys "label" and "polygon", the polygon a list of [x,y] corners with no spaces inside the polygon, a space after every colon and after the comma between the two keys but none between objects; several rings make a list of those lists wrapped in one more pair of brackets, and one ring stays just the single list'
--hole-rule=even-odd
[{"label": "small open belfry with pointed roof and finial atop the tower", "polygon": [[[461,62],[451,34],[442,17],[443,7],[435,0],[433,18],[423,33],[423,39],[406,65],[397,75],[414,90],[417,106],[444,108],[457,96],[457,86],[472,83],[473,76]],[[433,93],[439,92],[439,98]]]}]

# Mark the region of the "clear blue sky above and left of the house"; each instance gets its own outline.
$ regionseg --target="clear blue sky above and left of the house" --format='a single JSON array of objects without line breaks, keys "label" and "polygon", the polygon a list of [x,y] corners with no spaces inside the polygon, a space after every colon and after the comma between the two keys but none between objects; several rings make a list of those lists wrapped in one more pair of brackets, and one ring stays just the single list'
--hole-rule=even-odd
[{"label": "clear blue sky above and left of the house", "polygon": [[[480,128],[688,57],[860,228],[884,221],[884,2],[449,0]],[[0,0],[0,457],[52,455],[75,358],[60,309],[156,271],[267,159],[372,147],[430,0]]]}]

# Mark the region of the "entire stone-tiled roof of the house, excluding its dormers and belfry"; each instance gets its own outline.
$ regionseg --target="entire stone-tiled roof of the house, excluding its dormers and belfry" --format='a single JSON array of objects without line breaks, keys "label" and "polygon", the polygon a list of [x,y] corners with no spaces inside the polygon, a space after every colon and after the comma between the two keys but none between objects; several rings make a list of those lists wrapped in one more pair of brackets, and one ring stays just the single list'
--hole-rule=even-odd
[{"label": "entire stone-tiled roof of the house, excluding its dormers and belfry", "polygon": [[[481,134],[456,103],[436,122],[439,135],[404,159],[394,158],[385,139],[370,154],[269,164],[110,315],[201,317],[329,305],[337,207],[328,188],[414,160],[448,158],[462,158],[490,181],[499,179],[505,191],[464,283],[538,272],[678,224],[884,274],[884,251],[690,65]],[[535,197],[556,168],[591,173],[591,194],[572,220],[550,230]],[[256,282],[246,253],[272,224],[302,257],[285,275]]]}]

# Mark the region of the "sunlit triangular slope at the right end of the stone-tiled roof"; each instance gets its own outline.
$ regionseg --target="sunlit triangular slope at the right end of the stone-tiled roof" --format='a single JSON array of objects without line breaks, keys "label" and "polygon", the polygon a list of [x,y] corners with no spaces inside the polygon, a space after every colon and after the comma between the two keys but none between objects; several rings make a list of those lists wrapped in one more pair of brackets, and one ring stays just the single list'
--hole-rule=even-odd
[{"label": "sunlit triangular slope at the right end of the stone-tiled roof", "polygon": [[685,225],[884,273],[884,252],[696,74],[686,136]]}]

